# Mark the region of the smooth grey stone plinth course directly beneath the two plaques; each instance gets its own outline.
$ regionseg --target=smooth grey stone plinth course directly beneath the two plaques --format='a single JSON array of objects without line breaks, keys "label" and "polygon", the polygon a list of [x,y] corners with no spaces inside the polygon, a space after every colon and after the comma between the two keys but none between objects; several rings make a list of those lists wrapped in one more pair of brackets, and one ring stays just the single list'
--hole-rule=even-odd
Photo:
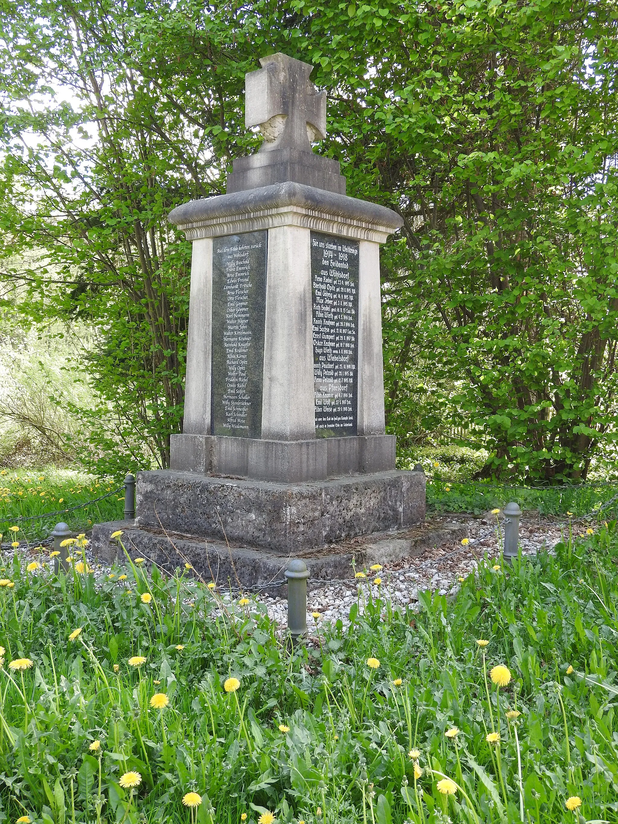
[{"label": "smooth grey stone plinth course directly beneath the two plaques", "polygon": [[171,436],[171,469],[302,483],[395,468],[395,436],[269,441],[211,435]]}]

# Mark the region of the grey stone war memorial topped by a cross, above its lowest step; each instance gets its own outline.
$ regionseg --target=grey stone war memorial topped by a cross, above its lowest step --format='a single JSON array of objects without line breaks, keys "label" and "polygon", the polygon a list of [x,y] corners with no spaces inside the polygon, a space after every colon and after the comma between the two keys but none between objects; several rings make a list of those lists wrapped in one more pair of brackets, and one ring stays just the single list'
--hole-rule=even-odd
[{"label": "grey stone war memorial topped by a cross, above its lowest step", "polygon": [[298,554],[423,522],[425,478],[385,433],[379,250],[402,220],[313,152],[312,67],[260,63],[260,150],[169,216],[193,241],[184,427],[171,469],[138,474],[136,525]]}]

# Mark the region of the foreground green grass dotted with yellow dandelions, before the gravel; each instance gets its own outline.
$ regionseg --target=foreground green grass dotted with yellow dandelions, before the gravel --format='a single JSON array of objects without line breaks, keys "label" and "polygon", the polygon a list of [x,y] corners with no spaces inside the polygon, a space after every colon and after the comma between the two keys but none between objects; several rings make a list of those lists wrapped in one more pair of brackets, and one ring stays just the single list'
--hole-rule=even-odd
[{"label": "foreground green grass dotted with yellow dandelions, before the gravel", "polygon": [[[186,571],[131,564],[96,585],[16,559],[0,586],[0,819],[180,824],[195,791],[207,824],[518,822],[520,803],[526,822],[575,824],[571,796],[584,821],[616,822],[616,564],[611,522],[555,556],[487,559],[452,600],[421,594],[418,613],[362,593],[348,628],[292,652],[262,606],[220,611]],[[11,671],[16,658],[33,667]],[[512,674],[503,689],[495,665]],[[166,709],[150,707],[158,692]]]}]

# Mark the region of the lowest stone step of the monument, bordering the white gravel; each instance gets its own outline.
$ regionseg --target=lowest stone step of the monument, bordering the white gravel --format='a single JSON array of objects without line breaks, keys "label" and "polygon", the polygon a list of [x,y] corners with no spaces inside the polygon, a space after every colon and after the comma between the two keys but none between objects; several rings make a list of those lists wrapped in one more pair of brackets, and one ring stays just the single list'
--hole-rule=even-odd
[{"label": "lowest stone step of the monument, bordering the white gravel", "polygon": [[[122,541],[132,558],[142,557],[171,574],[190,564],[194,574],[222,589],[260,589],[284,597],[287,592],[283,571],[290,555],[257,547],[227,545],[198,536],[180,535],[163,530],[135,527],[133,522],[113,521],[96,524],[92,532],[92,551],[107,563],[122,563],[123,553],[110,536],[123,531]],[[372,564],[391,564],[400,559],[422,555],[424,550],[461,541],[467,537],[465,524],[427,522],[419,527],[379,532],[319,550],[300,550],[293,557],[307,564],[308,588],[332,580],[353,582],[357,572]]]}]

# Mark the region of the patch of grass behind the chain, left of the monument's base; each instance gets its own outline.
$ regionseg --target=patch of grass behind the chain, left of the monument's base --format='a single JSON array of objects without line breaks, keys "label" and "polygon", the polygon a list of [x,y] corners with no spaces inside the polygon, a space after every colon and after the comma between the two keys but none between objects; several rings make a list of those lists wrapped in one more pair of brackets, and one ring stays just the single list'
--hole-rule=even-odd
[{"label": "patch of grass behind the chain, left of the monument's base", "polygon": [[[20,527],[16,540],[39,541],[49,536],[54,526],[63,521],[73,531],[87,530],[93,523],[114,521],[123,517],[124,490],[103,500],[116,489],[113,481],[71,470],[45,467],[40,471],[0,472],[0,532],[3,541],[11,526]],[[72,509],[73,507],[79,507]],[[48,517],[45,513],[55,513]],[[21,520],[26,518],[26,520]]]}]

